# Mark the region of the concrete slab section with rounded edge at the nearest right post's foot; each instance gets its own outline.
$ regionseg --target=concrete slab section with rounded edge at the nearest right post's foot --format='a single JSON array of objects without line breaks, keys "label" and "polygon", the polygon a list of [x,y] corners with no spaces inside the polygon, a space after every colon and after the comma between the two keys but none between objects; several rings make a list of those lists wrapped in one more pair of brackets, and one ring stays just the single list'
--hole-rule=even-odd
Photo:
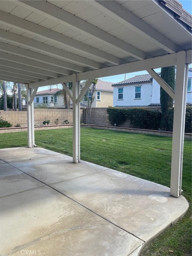
[{"label": "concrete slab section with rounded edge at the nearest right post's foot", "polygon": [[50,186],[143,241],[188,209],[183,196],[170,196],[170,188],[112,169]]}]

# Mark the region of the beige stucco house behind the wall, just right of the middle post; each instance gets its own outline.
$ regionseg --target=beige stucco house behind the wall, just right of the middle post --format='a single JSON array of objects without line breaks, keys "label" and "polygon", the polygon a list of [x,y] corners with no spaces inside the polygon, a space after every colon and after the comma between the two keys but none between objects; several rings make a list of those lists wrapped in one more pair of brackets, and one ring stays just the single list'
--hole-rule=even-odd
[{"label": "beige stucco house behind the wall, just right of the middle post", "polygon": [[[113,106],[113,87],[111,82],[98,80],[94,90],[94,102],[92,107],[108,107]],[[91,84],[90,88],[92,88]],[[81,103],[87,105],[88,102],[84,97]]]}]

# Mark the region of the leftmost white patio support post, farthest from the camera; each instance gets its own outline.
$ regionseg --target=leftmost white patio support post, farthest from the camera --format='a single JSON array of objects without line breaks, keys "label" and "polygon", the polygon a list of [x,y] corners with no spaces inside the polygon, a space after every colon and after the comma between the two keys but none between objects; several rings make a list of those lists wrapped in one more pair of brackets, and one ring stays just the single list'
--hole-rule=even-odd
[{"label": "leftmost white patio support post, farthest from the camera", "polygon": [[33,148],[35,146],[35,131],[34,131],[34,102],[33,99],[38,90],[29,89],[29,84],[26,84],[27,89],[27,131],[28,131],[28,147]]}]

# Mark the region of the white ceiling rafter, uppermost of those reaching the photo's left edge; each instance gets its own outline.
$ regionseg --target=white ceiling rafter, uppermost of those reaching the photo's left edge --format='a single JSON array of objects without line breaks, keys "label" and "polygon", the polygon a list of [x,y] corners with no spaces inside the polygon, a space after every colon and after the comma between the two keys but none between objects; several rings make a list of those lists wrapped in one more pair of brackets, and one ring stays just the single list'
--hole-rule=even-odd
[{"label": "white ceiling rafter, uppermost of those reaching the photo's left edge", "polygon": [[14,28],[20,28],[25,32],[30,32],[33,35],[39,35],[47,40],[51,39],[56,44],[61,43],[61,44],[73,47],[74,49],[81,50],[82,52],[90,53],[93,56],[97,56],[97,57],[103,59],[104,61],[113,63],[115,65],[126,63],[126,61],[119,59],[118,57],[113,56],[109,53],[98,50],[94,47],[91,47],[87,44],[76,41],[75,39],[69,38],[65,35],[62,35],[62,34],[55,32],[51,29],[47,29],[43,26],[32,23],[28,20],[23,20],[19,17],[12,15],[12,14],[8,14],[4,11],[0,11],[0,20],[1,20],[1,23],[3,23],[3,24],[9,24],[9,25],[13,26]]}]

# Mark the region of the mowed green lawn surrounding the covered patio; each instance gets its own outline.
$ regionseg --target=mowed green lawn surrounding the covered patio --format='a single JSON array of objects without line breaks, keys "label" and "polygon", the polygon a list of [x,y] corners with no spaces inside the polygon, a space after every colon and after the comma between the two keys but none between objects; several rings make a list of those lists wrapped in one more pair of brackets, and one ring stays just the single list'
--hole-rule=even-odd
[{"label": "mowed green lawn surrounding the covered patio", "polygon": [[[72,156],[72,128],[35,131],[38,147]],[[0,148],[27,146],[27,133],[0,134]],[[172,138],[81,128],[81,159],[170,187]],[[183,195],[190,203],[184,218],[142,252],[191,255],[191,141],[184,141]],[[173,209],[174,210],[174,209]],[[172,250],[173,252],[170,252]]]}]

